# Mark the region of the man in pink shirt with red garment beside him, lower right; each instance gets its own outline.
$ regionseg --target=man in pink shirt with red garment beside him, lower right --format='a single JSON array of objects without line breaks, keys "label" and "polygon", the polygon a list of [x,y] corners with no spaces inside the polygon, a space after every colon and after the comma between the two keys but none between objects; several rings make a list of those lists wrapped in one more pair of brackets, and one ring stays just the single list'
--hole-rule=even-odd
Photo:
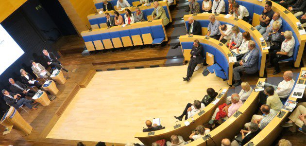
[{"label": "man in pink shirt with red garment beside him, lower right", "polygon": [[[209,125],[213,125],[217,120],[220,120],[221,118],[224,120],[227,120],[229,117],[231,117],[243,104],[243,102],[240,100],[239,94],[233,93],[231,96],[231,105],[226,105],[226,103],[220,105],[214,112],[213,116],[211,117],[211,120],[208,122]],[[225,105],[222,109],[221,107]]]}]

